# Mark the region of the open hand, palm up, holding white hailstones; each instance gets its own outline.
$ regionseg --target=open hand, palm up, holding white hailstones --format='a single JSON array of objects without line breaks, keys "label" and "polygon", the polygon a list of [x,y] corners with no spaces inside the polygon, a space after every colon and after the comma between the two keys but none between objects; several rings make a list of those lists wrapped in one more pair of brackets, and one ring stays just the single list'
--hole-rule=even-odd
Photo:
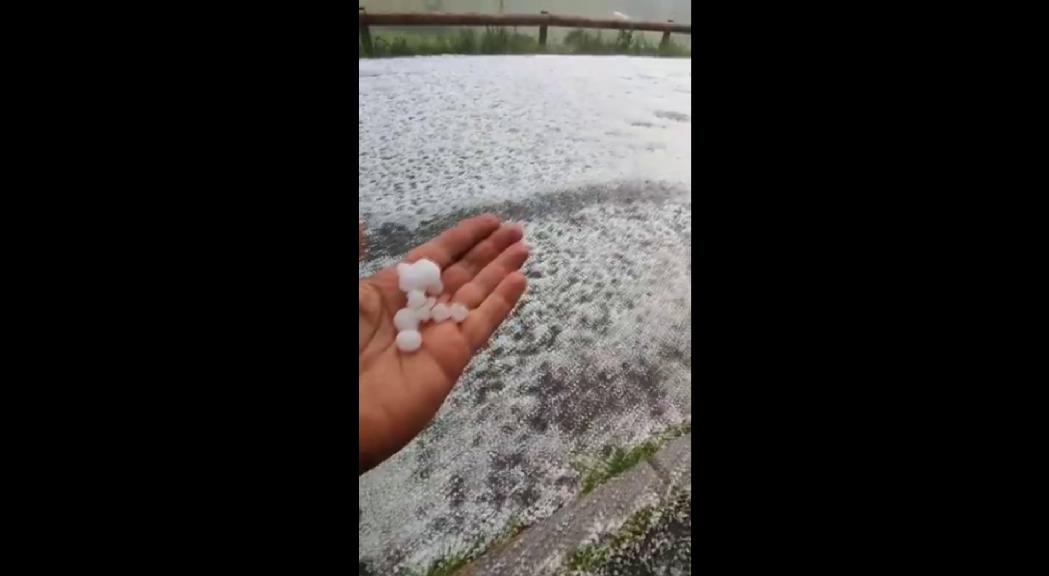
[{"label": "open hand, palm up, holding white hailstones", "polygon": [[405,258],[441,266],[445,294],[437,300],[462,302],[470,316],[462,324],[427,323],[420,328],[423,347],[398,350],[393,315],[406,304],[397,268],[358,285],[360,332],[359,472],[369,470],[403,448],[437,413],[470,359],[510,316],[524,294],[519,272],[528,259],[520,227],[493,215],[465,220]]}]

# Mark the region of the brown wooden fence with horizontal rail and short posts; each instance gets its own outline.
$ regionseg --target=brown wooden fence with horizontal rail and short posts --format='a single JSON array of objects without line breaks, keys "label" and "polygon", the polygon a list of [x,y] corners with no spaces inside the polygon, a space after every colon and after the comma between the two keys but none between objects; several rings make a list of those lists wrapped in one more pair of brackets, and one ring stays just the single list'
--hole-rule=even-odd
[{"label": "brown wooden fence with horizontal rail and short posts", "polygon": [[371,26],[538,26],[539,45],[547,45],[547,28],[593,28],[606,30],[642,30],[663,33],[662,45],[670,42],[670,34],[692,34],[691,24],[639,22],[635,20],[601,20],[555,14],[371,14],[359,8],[358,30],[364,54],[373,54]]}]

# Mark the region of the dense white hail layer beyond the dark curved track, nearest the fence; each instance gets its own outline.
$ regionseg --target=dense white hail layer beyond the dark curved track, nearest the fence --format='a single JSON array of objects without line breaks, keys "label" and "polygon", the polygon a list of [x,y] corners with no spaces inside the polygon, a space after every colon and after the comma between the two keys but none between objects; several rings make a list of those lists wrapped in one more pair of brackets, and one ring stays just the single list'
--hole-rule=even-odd
[{"label": "dense white hail layer beyond the dark curved track, nearest the fence", "polygon": [[691,61],[360,61],[358,196],[368,228],[613,179],[691,180]]}]

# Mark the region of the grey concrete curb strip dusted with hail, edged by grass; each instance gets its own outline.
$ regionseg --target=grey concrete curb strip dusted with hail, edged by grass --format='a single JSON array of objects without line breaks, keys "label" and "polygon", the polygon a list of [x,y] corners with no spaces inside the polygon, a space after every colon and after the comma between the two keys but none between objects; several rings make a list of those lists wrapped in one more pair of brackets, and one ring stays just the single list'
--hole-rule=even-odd
[{"label": "grey concrete curb strip dusted with hail, edged by grass", "polygon": [[636,512],[676,489],[691,491],[692,434],[667,445],[626,474],[612,479],[553,516],[463,569],[459,576],[551,575],[576,550],[618,531]]}]

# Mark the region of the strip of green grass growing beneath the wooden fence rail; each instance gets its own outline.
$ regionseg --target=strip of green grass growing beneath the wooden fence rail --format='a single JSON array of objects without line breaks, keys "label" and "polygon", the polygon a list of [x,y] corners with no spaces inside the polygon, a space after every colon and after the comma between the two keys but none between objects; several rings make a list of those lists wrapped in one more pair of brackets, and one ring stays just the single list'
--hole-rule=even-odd
[{"label": "strip of green grass growing beneath the wooden fence rail", "polygon": [[[620,31],[604,35],[601,31],[584,29],[572,30],[560,44],[540,46],[536,35],[521,34],[506,27],[486,27],[478,34],[473,28],[455,33],[412,34],[390,31],[382,28],[371,33],[371,44],[376,58],[435,55],[497,55],[497,54],[565,54],[565,55],[631,55],[661,57],[691,57],[688,47],[671,41],[660,46],[649,41],[643,34]],[[361,55],[363,50],[359,50]]]}]

